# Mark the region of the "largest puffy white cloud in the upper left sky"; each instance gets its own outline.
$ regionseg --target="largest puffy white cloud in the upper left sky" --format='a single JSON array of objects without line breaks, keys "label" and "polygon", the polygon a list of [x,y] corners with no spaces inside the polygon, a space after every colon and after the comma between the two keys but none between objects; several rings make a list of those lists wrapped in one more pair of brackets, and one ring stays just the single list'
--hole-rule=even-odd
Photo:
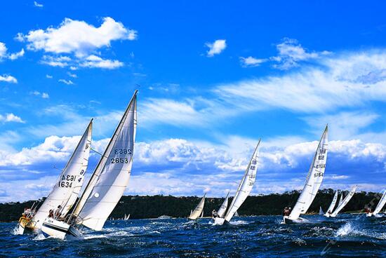
[{"label": "largest puffy white cloud in the upper left sky", "polygon": [[100,27],[87,22],[65,18],[59,27],[36,29],[25,35],[27,48],[44,50],[47,53],[74,53],[84,56],[102,47],[109,47],[112,41],[134,40],[136,32],[127,29],[113,18],[103,18]]}]

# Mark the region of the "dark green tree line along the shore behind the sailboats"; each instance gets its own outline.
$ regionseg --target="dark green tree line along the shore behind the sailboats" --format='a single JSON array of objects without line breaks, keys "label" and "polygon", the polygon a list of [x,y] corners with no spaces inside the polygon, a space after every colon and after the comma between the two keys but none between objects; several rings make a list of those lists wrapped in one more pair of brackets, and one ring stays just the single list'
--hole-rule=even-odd
[{"label": "dark green tree line along the shore behind the sailboats", "polygon": [[[347,196],[348,191],[345,191]],[[319,190],[308,213],[318,213],[319,207],[325,212],[330,205],[335,191],[333,189]],[[293,207],[300,191],[287,191],[283,194],[268,194],[263,196],[248,196],[239,208],[240,216],[250,215],[281,215],[284,207]],[[379,193],[361,191],[352,197],[342,212],[361,212],[365,207],[374,209],[380,199]],[[119,219],[130,214],[130,219],[157,218],[162,215],[171,217],[187,217],[191,210],[201,200],[201,196],[122,196],[121,200],[110,215]],[[41,204],[44,198],[38,200]],[[206,198],[204,216],[211,216],[212,210],[218,210],[224,198]],[[23,203],[0,203],[0,222],[17,221],[25,208],[30,208],[35,201]],[[229,204],[232,197],[229,198]]]}]

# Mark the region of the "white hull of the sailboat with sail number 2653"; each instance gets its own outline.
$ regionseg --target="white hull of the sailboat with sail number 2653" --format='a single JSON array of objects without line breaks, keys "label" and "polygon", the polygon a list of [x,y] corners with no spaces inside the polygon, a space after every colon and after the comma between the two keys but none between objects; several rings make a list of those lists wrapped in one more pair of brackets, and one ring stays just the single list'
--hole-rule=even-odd
[{"label": "white hull of the sailboat with sail number 2653", "polygon": [[67,239],[83,237],[81,232],[74,228],[74,226],[70,226],[65,222],[60,222],[49,217],[44,220],[41,231],[44,235],[52,236],[53,238]]}]

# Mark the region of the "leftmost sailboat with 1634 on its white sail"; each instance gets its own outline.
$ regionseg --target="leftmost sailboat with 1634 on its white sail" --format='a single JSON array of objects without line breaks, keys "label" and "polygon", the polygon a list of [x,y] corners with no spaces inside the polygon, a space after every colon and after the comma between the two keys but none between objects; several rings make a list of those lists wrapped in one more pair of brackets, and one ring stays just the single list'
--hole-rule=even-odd
[{"label": "leftmost sailboat with 1634 on its white sail", "polygon": [[18,233],[24,233],[25,229],[38,231],[43,225],[44,219],[50,210],[57,210],[62,215],[67,212],[76,202],[84,182],[84,175],[88,165],[88,156],[91,149],[91,134],[93,130],[93,119],[88,124],[86,131],[79,140],[67,165],[60,173],[58,181],[53,186],[51,193],[36,211],[37,205],[25,210],[19,219]]}]

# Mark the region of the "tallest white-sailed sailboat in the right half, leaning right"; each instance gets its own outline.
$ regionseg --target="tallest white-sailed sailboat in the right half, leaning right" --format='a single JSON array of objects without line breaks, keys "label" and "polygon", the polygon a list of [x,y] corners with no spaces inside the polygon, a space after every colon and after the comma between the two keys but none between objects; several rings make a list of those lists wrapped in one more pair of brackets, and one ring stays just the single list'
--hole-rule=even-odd
[{"label": "tallest white-sailed sailboat in the right half, leaning right", "polygon": [[317,196],[321,182],[323,181],[328,153],[327,147],[328,125],[326,125],[326,129],[324,129],[324,133],[321,135],[321,140],[319,141],[317,151],[315,152],[312,160],[310,170],[308,171],[302,193],[300,194],[291,214],[283,217],[284,223],[308,222],[307,219],[300,217],[300,215],[305,214],[308,208],[310,208],[312,201],[314,201],[315,196]]}]

